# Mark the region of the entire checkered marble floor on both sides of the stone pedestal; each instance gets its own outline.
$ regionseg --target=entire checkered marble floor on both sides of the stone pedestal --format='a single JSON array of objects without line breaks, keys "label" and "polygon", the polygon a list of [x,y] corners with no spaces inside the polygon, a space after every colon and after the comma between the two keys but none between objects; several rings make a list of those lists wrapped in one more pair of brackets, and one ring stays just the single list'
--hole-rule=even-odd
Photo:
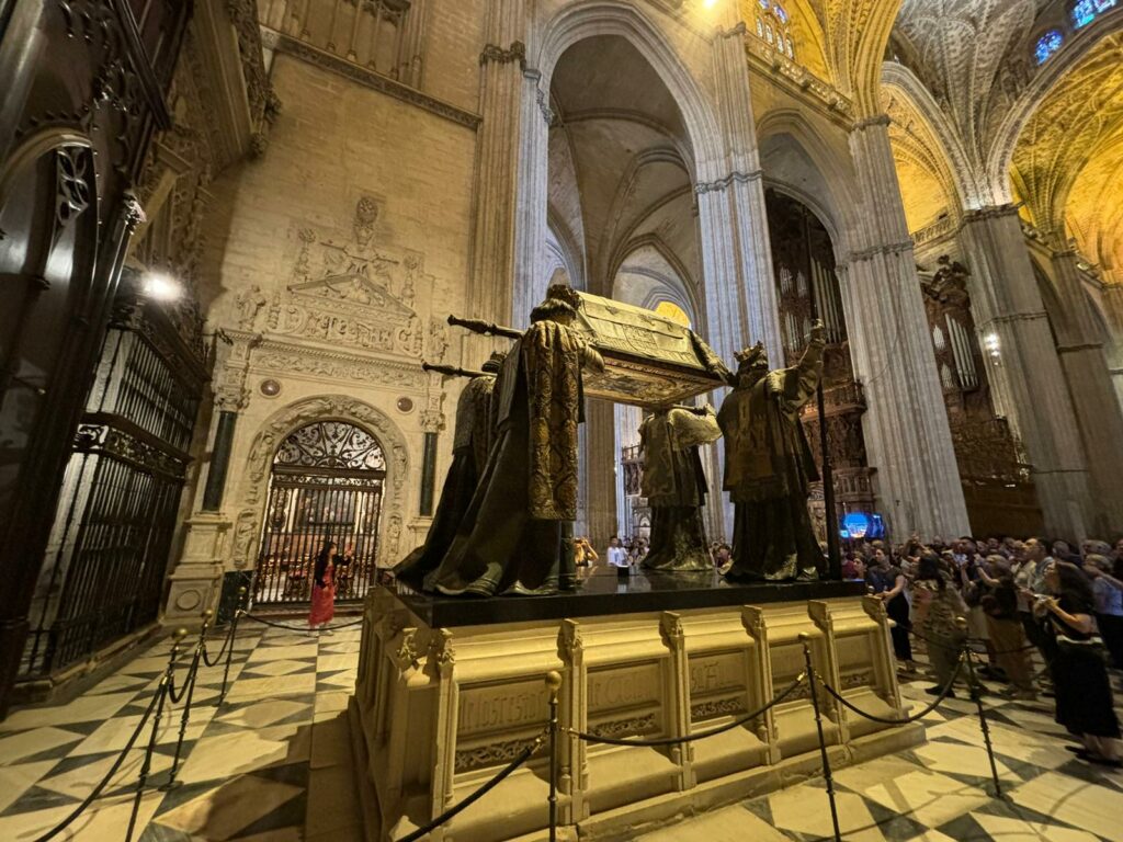
[{"label": "entire checkered marble floor on both sides of the stone pedestal", "polygon": [[[346,723],[359,631],[311,638],[244,624],[232,688],[219,710],[221,668],[204,669],[186,732],[182,785],[141,802],[141,842],[351,842],[360,839]],[[165,665],[157,644],[74,702],[25,710],[0,723],[0,840],[34,840],[64,817],[125,747]],[[904,686],[917,707],[928,681]],[[1123,693],[1117,694],[1123,701]],[[929,742],[841,769],[847,842],[1097,842],[1123,840],[1123,772],[1063,749],[1050,704],[987,698],[1007,798],[989,795],[974,705],[949,699],[930,714]],[[166,779],[179,706],[165,717],[154,782]],[[1123,713],[1123,712],[1121,712]],[[147,739],[147,732],[145,734]],[[134,749],[93,807],[57,839],[125,836],[143,752]],[[305,831],[305,827],[308,829]],[[822,780],[643,835],[642,842],[811,842],[831,836]]]}]

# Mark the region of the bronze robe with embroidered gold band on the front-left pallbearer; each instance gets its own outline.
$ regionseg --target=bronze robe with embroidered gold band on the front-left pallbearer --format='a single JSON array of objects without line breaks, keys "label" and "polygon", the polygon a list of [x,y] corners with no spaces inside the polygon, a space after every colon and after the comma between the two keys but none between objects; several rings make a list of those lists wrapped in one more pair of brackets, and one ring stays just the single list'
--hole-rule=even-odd
[{"label": "bronze robe with embroidered gold band on the front-left pallbearer", "polygon": [[427,589],[557,592],[563,524],[577,514],[585,365],[603,365],[600,354],[555,321],[535,322],[515,342],[492,399],[495,445],[453,546],[426,577]]}]

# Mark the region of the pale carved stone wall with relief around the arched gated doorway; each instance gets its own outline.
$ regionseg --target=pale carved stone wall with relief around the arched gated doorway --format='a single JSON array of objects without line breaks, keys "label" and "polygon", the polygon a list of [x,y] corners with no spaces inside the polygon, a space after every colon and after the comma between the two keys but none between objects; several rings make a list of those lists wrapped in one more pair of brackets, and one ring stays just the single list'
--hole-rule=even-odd
[{"label": "pale carved stone wall with relief around the arched gated doorway", "polygon": [[[428,529],[423,437],[459,390],[421,361],[484,355],[445,322],[464,314],[474,131],[287,54],[271,83],[284,109],[267,153],[211,185],[200,293],[226,340],[216,403],[238,421],[221,510],[199,516],[200,483],[192,529],[225,530],[207,541],[222,566],[253,568],[276,446],[309,421],[346,420],[387,455],[378,562],[392,565]],[[438,476],[449,454],[441,436]]]}]

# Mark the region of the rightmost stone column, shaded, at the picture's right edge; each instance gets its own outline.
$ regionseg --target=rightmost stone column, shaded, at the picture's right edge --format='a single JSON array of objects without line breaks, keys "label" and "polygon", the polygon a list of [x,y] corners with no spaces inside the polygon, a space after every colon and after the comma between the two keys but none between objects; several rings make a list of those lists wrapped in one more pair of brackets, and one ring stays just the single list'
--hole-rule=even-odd
[{"label": "rightmost stone column, shaded, at the picture's right edge", "polygon": [[1102,322],[1078,262],[1072,249],[1053,255],[1057,292],[1068,317],[1063,324],[1054,320],[1053,330],[1087,458],[1093,525],[1099,536],[1107,536],[1123,523],[1123,412],[1104,353]]}]

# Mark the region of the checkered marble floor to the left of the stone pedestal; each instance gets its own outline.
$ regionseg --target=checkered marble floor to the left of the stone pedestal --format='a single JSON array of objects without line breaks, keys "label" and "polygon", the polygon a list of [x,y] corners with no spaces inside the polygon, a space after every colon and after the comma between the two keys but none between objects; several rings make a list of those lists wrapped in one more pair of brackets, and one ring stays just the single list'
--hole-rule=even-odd
[{"label": "checkered marble floor to the left of the stone pedestal", "polygon": [[[346,720],[359,633],[353,626],[313,638],[243,622],[227,699],[216,708],[222,667],[201,669],[181,786],[148,789],[134,840],[362,839]],[[0,840],[36,839],[91,791],[144,714],[167,652],[166,641],[157,643],[70,704],[16,711],[0,722]],[[155,787],[167,779],[181,712],[172,705],[161,723]],[[56,839],[125,839],[149,733],[146,726],[102,796]]]}]

